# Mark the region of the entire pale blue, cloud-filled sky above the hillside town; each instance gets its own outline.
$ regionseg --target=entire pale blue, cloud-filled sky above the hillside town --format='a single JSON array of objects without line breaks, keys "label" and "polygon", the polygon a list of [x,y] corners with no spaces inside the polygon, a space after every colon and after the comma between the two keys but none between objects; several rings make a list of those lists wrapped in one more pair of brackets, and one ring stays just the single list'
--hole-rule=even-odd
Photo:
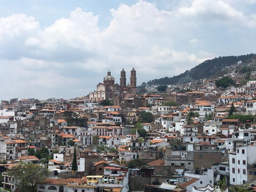
[{"label": "entire pale blue, cloud-filled sky above the hillside town", "polygon": [[0,99],[70,99],[256,52],[256,0],[0,0]]}]

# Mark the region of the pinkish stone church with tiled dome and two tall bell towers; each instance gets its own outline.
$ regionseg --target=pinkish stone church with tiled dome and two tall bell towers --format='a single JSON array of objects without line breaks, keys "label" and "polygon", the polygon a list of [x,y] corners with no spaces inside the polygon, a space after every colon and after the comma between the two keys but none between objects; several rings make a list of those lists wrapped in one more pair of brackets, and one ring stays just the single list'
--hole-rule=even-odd
[{"label": "pinkish stone church with tiled dome and two tall bell towers", "polygon": [[131,70],[130,84],[126,85],[126,72],[123,69],[120,76],[120,84],[115,84],[115,78],[108,71],[104,77],[103,83],[97,85],[97,90],[89,93],[90,100],[102,101],[112,99],[113,96],[128,96],[136,95],[136,71],[134,68]]}]

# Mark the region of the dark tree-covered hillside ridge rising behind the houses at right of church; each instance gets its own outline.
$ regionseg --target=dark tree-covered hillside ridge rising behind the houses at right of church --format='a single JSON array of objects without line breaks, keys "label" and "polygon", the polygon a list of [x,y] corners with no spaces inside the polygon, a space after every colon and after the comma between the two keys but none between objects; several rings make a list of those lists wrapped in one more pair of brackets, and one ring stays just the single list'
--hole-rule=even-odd
[{"label": "dark tree-covered hillside ridge rising behind the houses at right of church", "polygon": [[243,63],[252,57],[256,57],[256,54],[247,54],[240,56],[226,56],[226,57],[215,57],[211,60],[206,60],[203,63],[197,65],[191,70],[187,70],[184,73],[173,76],[164,77],[160,79],[150,80],[147,84],[150,85],[171,85],[171,84],[183,84],[194,80],[209,78],[209,77],[220,77],[225,71],[221,71],[226,66],[242,61]]}]

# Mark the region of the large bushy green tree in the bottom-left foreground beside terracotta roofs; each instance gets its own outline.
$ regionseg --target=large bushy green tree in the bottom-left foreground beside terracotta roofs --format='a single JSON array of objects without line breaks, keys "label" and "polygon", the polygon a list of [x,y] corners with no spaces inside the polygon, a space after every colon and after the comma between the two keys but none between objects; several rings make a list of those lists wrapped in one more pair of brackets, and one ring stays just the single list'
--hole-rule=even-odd
[{"label": "large bushy green tree in the bottom-left foreground beside terracotta roofs", "polygon": [[19,163],[13,166],[8,175],[15,178],[19,192],[35,192],[37,191],[37,184],[47,177],[47,169],[43,166],[35,164]]}]

